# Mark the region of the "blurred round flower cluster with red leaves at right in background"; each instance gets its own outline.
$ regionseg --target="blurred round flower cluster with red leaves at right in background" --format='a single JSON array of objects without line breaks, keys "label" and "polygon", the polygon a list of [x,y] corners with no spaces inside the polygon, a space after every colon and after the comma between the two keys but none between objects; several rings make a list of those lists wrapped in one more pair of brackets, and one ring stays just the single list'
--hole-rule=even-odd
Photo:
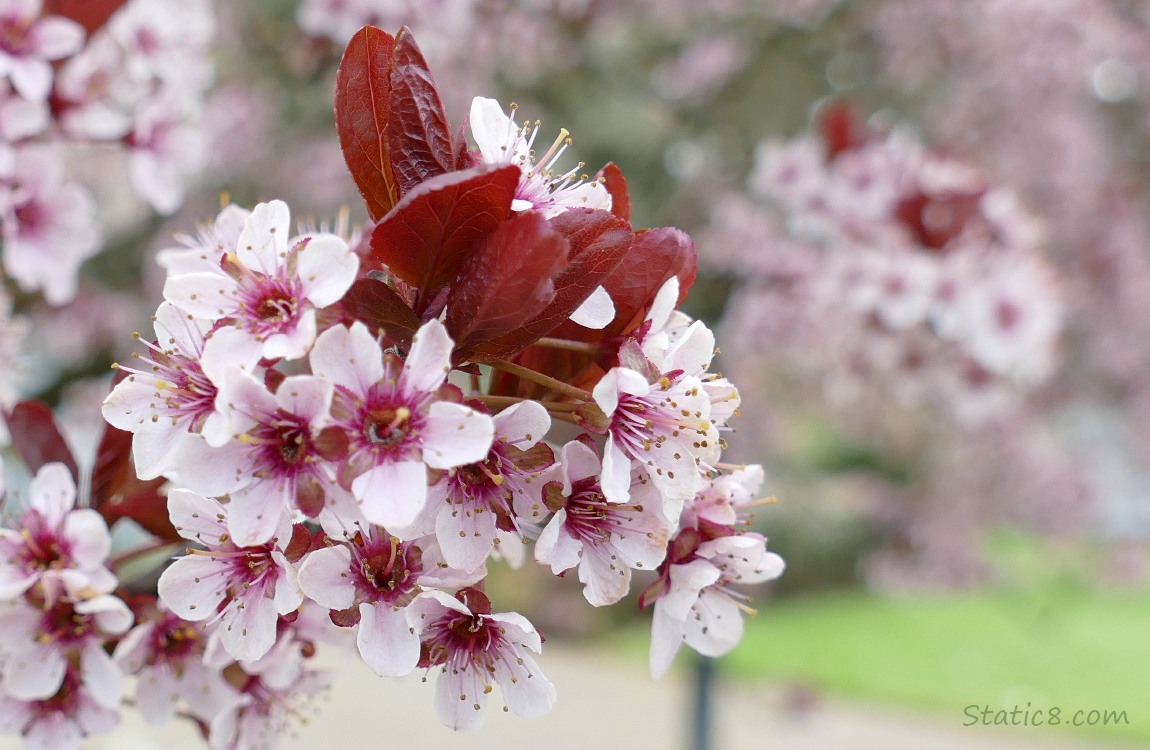
[{"label": "blurred round flower cluster with red leaves at right in background", "polygon": [[[865,387],[979,421],[1052,372],[1061,306],[1042,228],[979,170],[839,106],[819,136],[760,144],[750,189],[761,202],[720,205],[716,223],[775,246],[749,261],[731,326],[798,344],[839,400]],[[785,321],[761,326],[765,307]]]}]

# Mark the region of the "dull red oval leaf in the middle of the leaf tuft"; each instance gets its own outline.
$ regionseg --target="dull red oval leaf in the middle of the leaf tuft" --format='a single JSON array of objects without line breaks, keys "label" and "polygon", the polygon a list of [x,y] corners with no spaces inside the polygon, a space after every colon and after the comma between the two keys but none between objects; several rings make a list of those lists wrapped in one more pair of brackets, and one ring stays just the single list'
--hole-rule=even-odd
[{"label": "dull red oval leaf in the middle of the leaf tuft", "polygon": [[476,344],[519,328],[554,300],[552,280],[567,265],[568,251],[567,239],[536,212],[491,232],[463,262],[447,299],[445,323],[461,360]]}]

